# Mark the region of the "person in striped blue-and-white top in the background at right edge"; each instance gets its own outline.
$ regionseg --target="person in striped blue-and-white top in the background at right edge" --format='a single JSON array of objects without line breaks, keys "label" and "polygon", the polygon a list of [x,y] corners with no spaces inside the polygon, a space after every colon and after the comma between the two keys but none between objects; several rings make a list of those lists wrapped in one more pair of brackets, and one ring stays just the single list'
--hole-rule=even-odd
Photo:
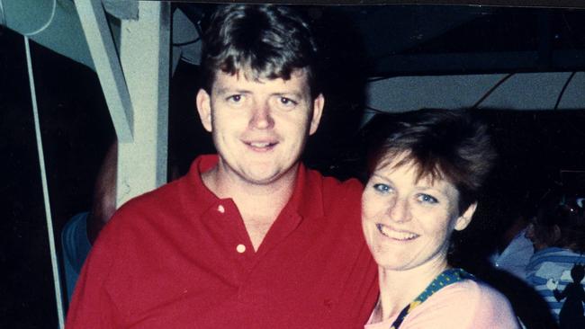
[{"label": "person in striped blue-and-white top in the background at right edge", "polygon": [[547,198],[527,228],[535,254],[527,281],[545,298],[561,329],[585,328],[585,198]]}]

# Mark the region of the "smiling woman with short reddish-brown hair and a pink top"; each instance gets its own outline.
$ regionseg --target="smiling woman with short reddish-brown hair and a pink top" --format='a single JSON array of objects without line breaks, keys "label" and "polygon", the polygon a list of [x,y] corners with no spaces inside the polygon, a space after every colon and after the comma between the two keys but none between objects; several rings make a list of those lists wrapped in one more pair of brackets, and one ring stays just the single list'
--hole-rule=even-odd
[{"label": "smiling woman with short reddish-brown hair and a pink top", "polygon": [[518,328],[508,300],[447,262],[470,223],[494,152],[464,111],[423,110],[374,127],[381,139],[362,197],[380,298],[365,328]]}]

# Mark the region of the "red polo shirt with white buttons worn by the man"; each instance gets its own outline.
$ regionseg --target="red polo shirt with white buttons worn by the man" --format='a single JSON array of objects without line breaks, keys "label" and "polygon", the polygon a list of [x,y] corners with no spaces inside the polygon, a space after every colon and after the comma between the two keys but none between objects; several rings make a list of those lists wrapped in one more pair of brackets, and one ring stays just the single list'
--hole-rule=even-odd
[{"label": "red polo shirt with white buttons worn by the man", "polygon": [[130,200],[85,262],[74,328],[362,328],[377,267],[360,226],[362,186],[300,166],[291,200],[257,252],[199,157],[178,181]]}]

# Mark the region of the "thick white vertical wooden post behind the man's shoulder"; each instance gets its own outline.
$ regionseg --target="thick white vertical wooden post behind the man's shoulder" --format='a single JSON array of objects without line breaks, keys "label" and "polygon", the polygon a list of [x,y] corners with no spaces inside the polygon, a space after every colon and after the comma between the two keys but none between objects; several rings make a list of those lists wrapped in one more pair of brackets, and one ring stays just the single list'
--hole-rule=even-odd
[{"label": "thick white vertical wooden post behind the man's shoulder", "polygon": [[170,4],[140,1],[121,22],[121,65],[134,108],[133,140],[118,148],[117,204],[166,182]]}]

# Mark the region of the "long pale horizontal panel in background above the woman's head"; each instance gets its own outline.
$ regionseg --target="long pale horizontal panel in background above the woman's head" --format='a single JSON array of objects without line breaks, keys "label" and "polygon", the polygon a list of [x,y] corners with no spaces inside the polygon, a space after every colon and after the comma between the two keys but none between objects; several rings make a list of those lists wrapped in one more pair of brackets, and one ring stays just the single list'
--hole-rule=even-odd
[{"label": "long pale horizontal panel in background above the woman's head", "polygon": [[[478,107],[552,110],[569,72],[524,73],[500,84]],[[367,105],[381,111],[472,107],[506,75],[399,76],[368,84]],[[585,73],[578,72],[563,93],[559,110],[585,109]]]}]

